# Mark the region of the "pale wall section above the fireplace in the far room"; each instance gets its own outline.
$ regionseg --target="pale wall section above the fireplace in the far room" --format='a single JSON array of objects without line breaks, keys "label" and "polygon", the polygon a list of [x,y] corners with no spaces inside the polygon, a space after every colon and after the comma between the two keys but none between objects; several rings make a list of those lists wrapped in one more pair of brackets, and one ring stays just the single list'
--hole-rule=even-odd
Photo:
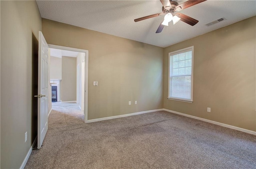
[{"label": "pale wall section above the fireplace in the far room", "polygon": [[61,63],[61,58],[57,58],[57,57],[50,57],[50,61],[51,61],[51,71],[50,71],[50,79],[61,79],[61,67],[62,67],[62,63]]}]

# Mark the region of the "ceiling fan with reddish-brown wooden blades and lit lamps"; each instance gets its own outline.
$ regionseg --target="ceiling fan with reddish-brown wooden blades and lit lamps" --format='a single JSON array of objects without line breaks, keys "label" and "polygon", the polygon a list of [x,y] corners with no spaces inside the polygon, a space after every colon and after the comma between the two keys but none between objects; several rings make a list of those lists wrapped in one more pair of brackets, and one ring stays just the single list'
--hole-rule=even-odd
[{"label": "ceiling fan with reddish-brown wooden blades and lit lamps", "polygon": [[194,6],[206,0],[188,0],[182,4],[178,4],[178,2],[172,1],[172,0],[160,0],[160,1],[163,4],[162,13],[144,16],[142,18],[135,19],[134,22],[138,22],[148,18],[154,18],[156,16],[161,16],[165,14],[164,21],[159,25],[158,29],[156,30],[156,33],[162,32],[162,30],[164,29],[164,26],[168,26],[168,23],[171,21],[173,21],[173,24],[176,24],[179,20],[181,20],[187,24],[190,24],[191,26],[194,26],[195,24],[198,23],[198,20],[195,20],[194,18],[191,18],[177,11],[181,11],[183,9],[186,9],[190,6]]}]

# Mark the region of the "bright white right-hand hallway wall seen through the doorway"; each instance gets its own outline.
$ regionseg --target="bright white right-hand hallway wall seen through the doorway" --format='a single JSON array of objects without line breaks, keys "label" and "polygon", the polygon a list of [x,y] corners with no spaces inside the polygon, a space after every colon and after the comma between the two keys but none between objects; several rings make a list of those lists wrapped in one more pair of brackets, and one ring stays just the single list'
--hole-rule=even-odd
[{"label": "bright white right-hand hallway wall seen through the doorway", "polygon": [[84,84],[82,82],[82,76],[83,75],[83,66],[82,62],[85,62],[85,53],[79,52],[76,57],[76,66],[78,66],[78,71],[76,74],[79,76],[78,81],[76,82],[76,101],[79,103],[80,108],[82,109],[82,97],[83,97],[83,91],[82,91],[82,85]]}]

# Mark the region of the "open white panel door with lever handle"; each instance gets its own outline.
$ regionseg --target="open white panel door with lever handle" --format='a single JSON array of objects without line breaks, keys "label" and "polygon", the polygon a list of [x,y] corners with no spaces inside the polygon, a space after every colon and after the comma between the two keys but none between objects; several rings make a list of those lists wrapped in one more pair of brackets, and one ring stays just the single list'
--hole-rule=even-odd
[{"label": "open white panel door with lever handle", "polygon": [[48,129],[48,44],[39,31],[38,46],[38,137],[40,149]]}]

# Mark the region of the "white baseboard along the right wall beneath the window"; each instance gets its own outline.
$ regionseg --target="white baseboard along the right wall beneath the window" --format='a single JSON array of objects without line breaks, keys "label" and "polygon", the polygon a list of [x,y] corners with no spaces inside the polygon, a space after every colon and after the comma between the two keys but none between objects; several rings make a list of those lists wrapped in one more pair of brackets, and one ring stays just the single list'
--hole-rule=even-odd
[{"label": "white baseboard along the right wall beneath the window", "polygon": [[163,110],[171,112],[171,113],[175,113],[175,114],[178,114],[178,115],[183,115],[183,116],[186,116],[186,117],[190,117],[190,118],[193,118],[193,119],[198,119],[198,120],[206,121],[208,123],[220,125],[220,126],[227,127],[227,128],[230,128],[230,129],[242,131],[242,132],[249,133],[249,134],[252,134],[252,135],[256,135],[256,131],[251,131],[251,130],[248,130],[248,129],[243,129],[243,128],[240,128],[240,127],[236,127],[236,126],[233,126],[233,125],[228,125],[228,124],[220,123],[220,122],[217,122],[217,121],[203,119],[201,117],[196,117],[196,116],[193,116],[193,115],[188,115],[188,114],[180,113],[180,112],[173,111],[173,110],[168,110],[168,109],[163,109]]}]

